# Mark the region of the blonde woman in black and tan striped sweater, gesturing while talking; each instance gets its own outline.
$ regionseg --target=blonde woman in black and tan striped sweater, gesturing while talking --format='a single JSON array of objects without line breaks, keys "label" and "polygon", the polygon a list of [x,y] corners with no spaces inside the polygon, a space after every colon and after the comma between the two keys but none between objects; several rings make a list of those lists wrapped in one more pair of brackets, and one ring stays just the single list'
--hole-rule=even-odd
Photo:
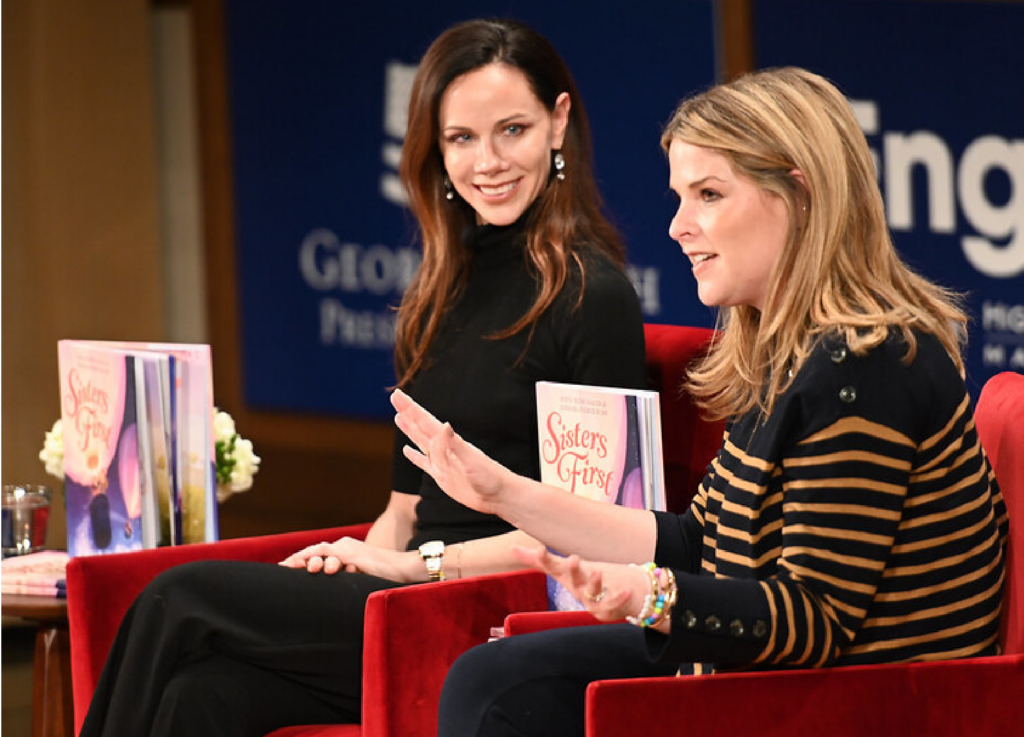
[{"label": "blonde woman in black and tan striped sweater, gesturing while talking", "polygon": [[722,449],[684,515],[600,506],[395,394],[414,463],[573,554],[520,557],[630,622],[469,651],[441,737],[583,735],[598,679],[998,650],[1007,514],[963,381],[965,316],[896,254],[847,101],[809,72],[761,72],[685,100],[662,143],[669,233],[720,308],[689,384],[728,419]]}]

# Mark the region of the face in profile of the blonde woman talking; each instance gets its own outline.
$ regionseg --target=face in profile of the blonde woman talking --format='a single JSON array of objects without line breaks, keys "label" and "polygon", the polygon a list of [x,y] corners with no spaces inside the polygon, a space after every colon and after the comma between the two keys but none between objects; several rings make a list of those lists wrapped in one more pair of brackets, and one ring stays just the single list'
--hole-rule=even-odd
[{"label": "face in profile of the blonde woman talking", "polygon": [[782,198],[737,174],[723,155],[680,140],[669,146],[679,208],[669,235],[692,264],[700,302],[761,310],[790,228]]}]

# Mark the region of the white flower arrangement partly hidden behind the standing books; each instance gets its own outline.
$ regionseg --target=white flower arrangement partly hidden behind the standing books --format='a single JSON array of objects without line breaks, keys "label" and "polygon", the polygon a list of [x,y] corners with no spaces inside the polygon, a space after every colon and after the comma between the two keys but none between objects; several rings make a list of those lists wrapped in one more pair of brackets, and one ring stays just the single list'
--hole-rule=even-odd
[{"label": "white flower arrangement partly hidden behind the standing books", "polygon": [[[239,435],[231,416],[216,407],[213,435],[217,456],[217,502],[224,502],[231,494],[252,488],[260,458],[253,452],[252,441]],[[63,481],[63,425],[60,420],[46,432],[39,460],[45,465],[46,473]]]}]

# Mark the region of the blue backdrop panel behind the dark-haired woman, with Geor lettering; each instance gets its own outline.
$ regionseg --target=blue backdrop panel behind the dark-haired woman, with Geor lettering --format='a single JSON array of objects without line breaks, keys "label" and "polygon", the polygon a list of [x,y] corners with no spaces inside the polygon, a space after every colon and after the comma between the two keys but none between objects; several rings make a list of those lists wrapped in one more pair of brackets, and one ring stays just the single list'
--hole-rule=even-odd
[{"label": "blue backdrop panel behind the dark-haired woman, with Geor lettering", "polygon": [[[394,312],[419,254],[396,165],[409,84],[430,41],[513,15],[569,64],[600,184],[647,318],[711,324],[668,235],[660,127],[711,83],[708,0],[657,3],[238,0],[227,3],[246,401],[389,417]],[[569,163],[571,166],[571,162]]]}]

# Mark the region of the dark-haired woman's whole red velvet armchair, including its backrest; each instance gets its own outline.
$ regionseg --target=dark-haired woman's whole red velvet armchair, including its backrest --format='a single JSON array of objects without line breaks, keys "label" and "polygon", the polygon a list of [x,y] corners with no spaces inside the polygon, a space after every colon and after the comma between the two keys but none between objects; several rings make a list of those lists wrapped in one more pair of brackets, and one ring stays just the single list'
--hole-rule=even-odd
[{"label": "dark-haired woman's whole red velvet armchair, including its backrest", "polygon": [[[646,326],[651,387],[662,394],[670,508],[686,506],[721,444],[721,423],[703,422],[680,390],[683,370],[707,350],[713,333]],[[276,562],[369,525],[292,532],[220,543],[75,558],[68,567],[68,604],[76,731],[124,612],[160,571],[203,558]],[[377,592],[367,602],[362,724],[290,727],[271,737],[426,737],[436,731],[437,699],[452,662],[485,642],[506,615],[547,606],[544,576],[534,571],[446,580]],[[416,622],[415,627],[410,622]]]}]

